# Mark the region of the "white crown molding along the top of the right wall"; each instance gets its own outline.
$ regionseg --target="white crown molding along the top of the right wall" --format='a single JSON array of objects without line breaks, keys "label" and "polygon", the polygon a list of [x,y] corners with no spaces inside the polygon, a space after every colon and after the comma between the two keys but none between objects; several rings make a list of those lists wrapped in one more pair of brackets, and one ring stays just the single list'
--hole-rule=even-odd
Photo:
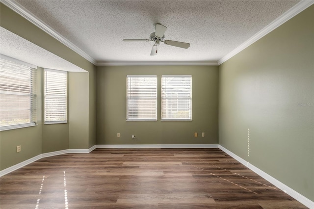
[{"label": "white crown molding along the top of the right wall", "polygon": [[221,65],[231,57],[235,56],[235,54],[241,52],[251,44],[255,43],[277,27],[283,25],[288,20],[305,10],[306,8],[310,7],[314,4],[314,0],[301,0],[299,3],[295,4],[293,7],[291,7],[287,12],[285,12],[283,15],[281,15],[279,18],[271,22],[268,26],[264,27],[262,30],[260,30],[258,33],[253,35],[251,38],[249,38],[247,41],[242,43],[240,46],[235,48],[233,51],[222,57],[220,60],[218,60],[218,65]]}]

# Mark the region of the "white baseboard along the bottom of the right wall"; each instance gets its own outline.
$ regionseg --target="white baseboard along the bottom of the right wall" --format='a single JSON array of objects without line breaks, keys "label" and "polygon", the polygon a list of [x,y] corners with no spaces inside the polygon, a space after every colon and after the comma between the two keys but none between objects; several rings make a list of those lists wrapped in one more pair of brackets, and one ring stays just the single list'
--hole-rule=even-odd
[{"label": "white baseboard along the bottom of the right wall", "polygon": [[291,189],[286,184],[281,183],[280,181],[278,181],[274,177],[270,176],[269,174],[265,173],[264,171],[262,171],[258,167],[255,167],[254,165],[252,165],[248,161],[242,159],[241,157],[238,157],[237,155],[235,155],[231,151],[227,150],[223,146],[219,145],[219,149],[221,149],[222,151],[224,151],[225,153],[227,153],[231,157],[235,158],[237,161],[239,161],[240,163],[242,163],[243,165],[248,167],[250,170],[254,171],[256,174],[258,174],[259,176],[261,176],[262,178],[264,178],[268,182],[274,184],[279,189],[283,190],[285,193],[287,193],[288,195],[290,195],[291,197],[293,197],[294,199],[296,199],[297,201],[299,201],[300,203],[302,203],[306,207],[308,207],[310,209],[314,209],[314,202],[311,201],[310,199],[304,197],[302,194],[300,194],[297,191]]}]

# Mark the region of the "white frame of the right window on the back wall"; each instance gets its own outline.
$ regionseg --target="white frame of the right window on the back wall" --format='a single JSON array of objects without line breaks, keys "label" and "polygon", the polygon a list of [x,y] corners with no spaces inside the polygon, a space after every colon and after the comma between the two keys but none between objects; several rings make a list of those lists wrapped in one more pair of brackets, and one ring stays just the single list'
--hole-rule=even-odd
[{"label": "white frame of the right window on the back wall", "polygon": [[[166,94],[164,93],[164,87],[163,87],[163,82],[164,82],[164,79],[163,78],[190,78],[190,96],[189,97],[183,97],[183,98],[180,98],[180,97],[167,97],[166,98]],[[161,75],[161,79],[160,79],[160,89],[161,89],[161,92],[160,92],[160,120],[161,121],[192,121],[192,75]],[[174,92],[169,92],[169,93],[174,93]],[[164,97],[164,98],[163,98]],[[167,99],[177,99],[177,102],[179,100],[182,100],[182,101],[189,101],[189,117],[188,118],[175,118],[175,117],[165,117],[163,116],[163,113],[164,110],[164,104],[163,102],[165,102]],[[179,105],[177,104],[177,111],[179,111]]]}]

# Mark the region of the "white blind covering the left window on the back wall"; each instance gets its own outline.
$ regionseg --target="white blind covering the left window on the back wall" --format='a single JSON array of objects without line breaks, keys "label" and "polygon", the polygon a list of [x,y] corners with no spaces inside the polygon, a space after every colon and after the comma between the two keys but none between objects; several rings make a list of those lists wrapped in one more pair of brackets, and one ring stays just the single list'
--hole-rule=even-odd
[{"label": "white blind covering the left window on the back wall", "polygon": [[127,76],[127,120],[157,120],[157,76]]}]

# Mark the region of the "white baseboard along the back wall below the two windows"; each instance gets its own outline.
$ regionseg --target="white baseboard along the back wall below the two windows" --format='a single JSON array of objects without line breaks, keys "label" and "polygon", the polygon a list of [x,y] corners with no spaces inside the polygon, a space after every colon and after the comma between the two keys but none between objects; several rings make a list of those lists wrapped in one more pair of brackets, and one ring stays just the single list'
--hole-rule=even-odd
[{"label": "white baseboard along the back wall below the two windows", "polygon": [[98,144],[96,148],[218,148],[218,144]]}]

